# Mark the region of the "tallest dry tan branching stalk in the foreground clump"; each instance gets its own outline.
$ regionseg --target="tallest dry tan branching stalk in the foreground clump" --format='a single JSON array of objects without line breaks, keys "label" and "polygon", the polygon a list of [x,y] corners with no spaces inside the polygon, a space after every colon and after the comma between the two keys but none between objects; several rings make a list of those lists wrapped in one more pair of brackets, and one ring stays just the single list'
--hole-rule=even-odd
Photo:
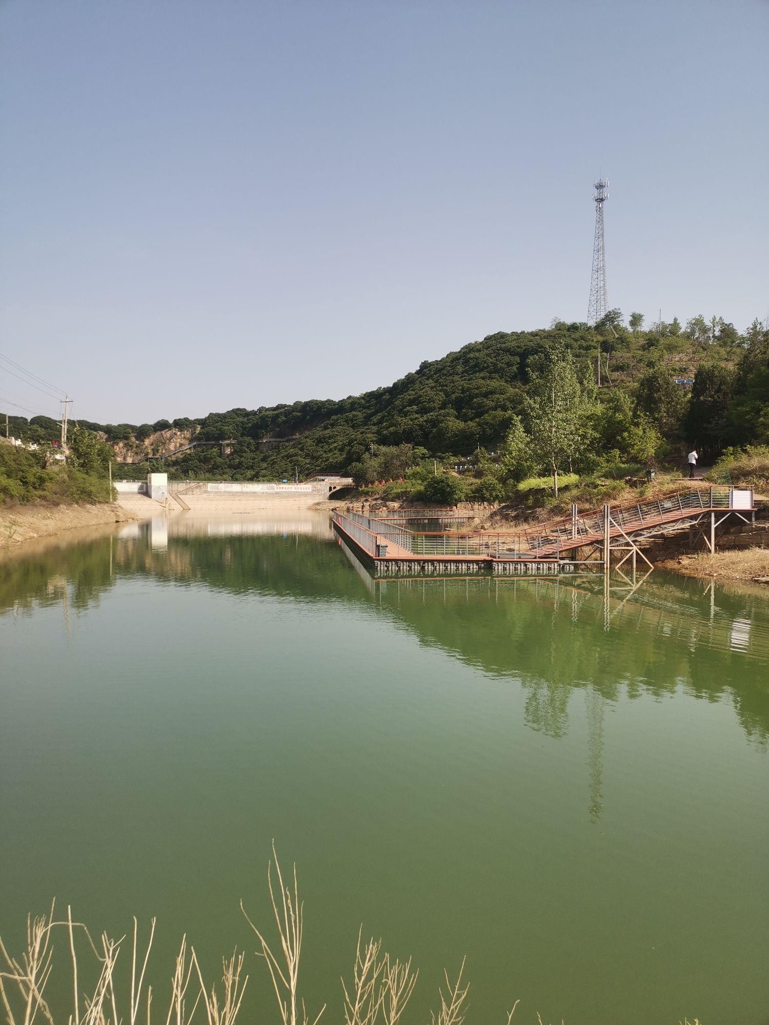
[{"label": "tallest dry tan branching stalk in the foreground clump", "polygon": [[[261,956],[267,961],[270,969],[270,977],[273,980],[275,996],[278,1000],[283,1025],[297,1025],[299,1021],[298,1013],[298,977],[299,977],[299,956],[301,954],[301,932],[303,905],[299,901],[298,885],[296,883],[296,865],[293,866],[293,889],[289,889],[283,881],[283,875],[278,862],[278,855],[273,843],[273,858],[275,859],[275,873],[278,876],[278,888],[280,890],[280,901],[275,896],[273,887],[273,862],[271,861],[267,869],[267,883],[270,890],[270,900],[273,905],[275,925],[280,937],[280,945],[283,953],[279,959],[273,952],[259,930],[254,926],[246,914],[243,901],[240,902],[240,909],[245,915],[246,921],[256,934],[261,945]],[[317,1025],[321,1015],[326,1010],[325,1003],[320,1010],[312,1025]],[[309,1025],[307,1009],[301,1003],[301,1025]]]}]

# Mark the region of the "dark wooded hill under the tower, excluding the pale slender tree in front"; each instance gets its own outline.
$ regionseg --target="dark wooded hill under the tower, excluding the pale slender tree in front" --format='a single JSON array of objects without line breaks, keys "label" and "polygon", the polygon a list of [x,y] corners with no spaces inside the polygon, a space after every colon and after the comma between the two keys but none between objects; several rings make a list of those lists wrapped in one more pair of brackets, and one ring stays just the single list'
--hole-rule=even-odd
[{"label": "dark wooded hill under the tower, excluding the pale slender tree in front", "polygon": [[[152,460],[153,468],[174,477],[302,478],[357,468],[371,446],[374,453],[382,446],[411,446],[412,462],[451,462],[478,449],[500,449],[517,417],[525,417],[534,358],[558,350],[569,355],[584,389],[593,389],[594,456],[632,457],[628,430],[634,423],[653,427],[663,443],[656,445],[657,456],[671,460],[692,444],[711,459],[726,446],[769,442],[769,332],[758,321],[744,333],[715,317],[694,318],[684,328],[674,320],[644,329],[642,321],[633,314],[625,327],[619,311],[611,311],[596,329],[558,321],[549,329],[498,332],[426,361],[389,386],[339,401],[231,409],[172,424],[79,422],[131,456],[119,476],[146,474],[146,456],[153,444],[157,451],[159,433],[171,427],[177,441],[235,442],[228,454],[196,448],[164,466]],[[599,347],[600,389],[594,386]],[[677,383],[686,378],[693,385]],[[614,422],[617,417],[622,423]],[[45,417],[10,420],[17,437],[58,437],[55,421]]]}]

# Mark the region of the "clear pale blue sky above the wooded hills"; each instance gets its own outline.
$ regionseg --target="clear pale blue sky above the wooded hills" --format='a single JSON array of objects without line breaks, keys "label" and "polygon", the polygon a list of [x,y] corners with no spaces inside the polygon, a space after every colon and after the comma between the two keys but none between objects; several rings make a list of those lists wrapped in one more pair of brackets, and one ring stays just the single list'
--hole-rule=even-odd
[{"label": "clear pale blue sky above the wooded hills", "polygon": [[768,42],[765,0],[5,0],[0,352],[112,422],[376,387],[583,320],[599,172],[610,304],[744,328]]}]

